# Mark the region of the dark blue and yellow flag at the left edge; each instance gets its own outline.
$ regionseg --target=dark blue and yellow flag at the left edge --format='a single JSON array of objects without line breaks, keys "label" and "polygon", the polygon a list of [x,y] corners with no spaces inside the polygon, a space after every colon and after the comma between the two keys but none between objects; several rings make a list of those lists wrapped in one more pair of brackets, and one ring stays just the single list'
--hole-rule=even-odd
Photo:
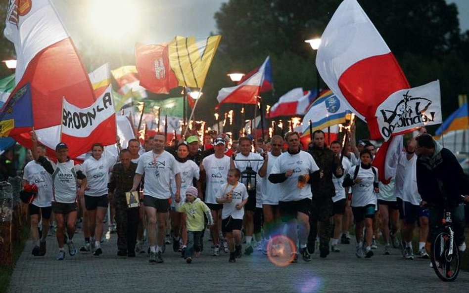
[{"label": "dark blue and yellow flag at the left edge", "polygon": [[30,131],[33,127],[31,86],[25,84],[8,98],[0,111],[0,137]]}]

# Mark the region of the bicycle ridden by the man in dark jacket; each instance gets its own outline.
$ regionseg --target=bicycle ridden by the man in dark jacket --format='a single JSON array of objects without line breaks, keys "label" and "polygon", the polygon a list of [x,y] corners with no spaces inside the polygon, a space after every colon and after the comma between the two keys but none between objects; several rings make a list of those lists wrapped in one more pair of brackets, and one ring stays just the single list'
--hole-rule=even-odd
[{"label": "bicycle ridden by the man in dark jacket", "polygon": [[451,212],[444,211],[439,231],[431,243],[431,263],[436,275],[442,281],[452,282],[459,274],[461,259],[454,241]]}]

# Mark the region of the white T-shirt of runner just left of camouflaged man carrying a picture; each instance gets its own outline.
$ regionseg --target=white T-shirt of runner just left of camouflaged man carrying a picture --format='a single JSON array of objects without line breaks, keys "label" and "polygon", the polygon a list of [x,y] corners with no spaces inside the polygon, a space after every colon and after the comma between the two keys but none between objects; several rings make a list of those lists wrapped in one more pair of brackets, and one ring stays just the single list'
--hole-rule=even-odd
[{"label": "white T-shirt of runner just left of camouflaged man carrying a picture", "polygon": [[87,178],[90,189],[85,190],[87,196],[103,196],[107,194],[109,183],[109,169],[115,164],[115,158],[101,157],[99,160],[90,157],[82,164],[83,173]]}]

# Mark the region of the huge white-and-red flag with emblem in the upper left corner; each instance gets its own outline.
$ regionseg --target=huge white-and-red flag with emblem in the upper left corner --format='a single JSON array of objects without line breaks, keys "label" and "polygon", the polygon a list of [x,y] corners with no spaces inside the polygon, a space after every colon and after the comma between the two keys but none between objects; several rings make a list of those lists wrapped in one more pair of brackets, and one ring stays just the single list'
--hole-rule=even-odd
[{"label": "huge white-and-red flag with emblem in the upper left corner", "polygon": [[[12,95],[31,84],[35,129],[61,124],[63,96],[77,107],[93,104],[88,74],[49,0],[10,0],[4,35],[14,43],[17,57],[17,84]],[[29,131],[14,138],[31,147]]]}]

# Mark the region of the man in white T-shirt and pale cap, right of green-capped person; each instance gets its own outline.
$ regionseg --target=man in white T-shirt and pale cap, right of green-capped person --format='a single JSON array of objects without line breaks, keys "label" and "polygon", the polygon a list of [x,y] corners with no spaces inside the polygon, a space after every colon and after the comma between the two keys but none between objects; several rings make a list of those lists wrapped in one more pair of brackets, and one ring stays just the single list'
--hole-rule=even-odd
[{"label": "man in white T-shirt and pale cap, right of green-capped person", "polygon": [[228,170],[230,169],[230,157],[225,155],[226,141],[217,137],[213,141],[214,154],[203,159],[200,171],[205,172],[205,204],[210,209],[213,218],[213,225],[210,228],[210,234],[213,241],[213,255],[217,256],[220,251],[221,222],[219,221],[223,205],[217,203],[215,195],[221,186],[227,183]]}]

